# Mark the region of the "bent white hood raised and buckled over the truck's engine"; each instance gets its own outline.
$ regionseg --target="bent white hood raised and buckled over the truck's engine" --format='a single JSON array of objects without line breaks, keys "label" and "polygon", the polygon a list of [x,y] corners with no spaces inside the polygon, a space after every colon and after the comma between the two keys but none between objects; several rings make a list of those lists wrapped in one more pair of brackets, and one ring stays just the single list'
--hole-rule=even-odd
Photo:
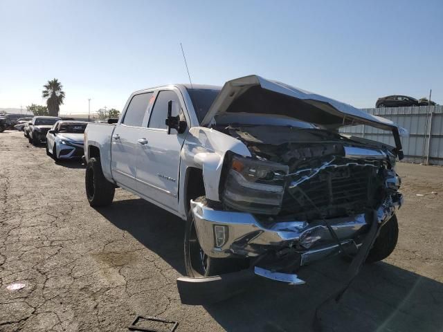
[{"label": "bent white hood raised and buckled over the truck's engine", "polygon": [[226,82],[210,107],[202,127],[208,127],[217,117],[234,115],[273,116],[293,118],[318,124],[327,129],[337,129],[354,124],[390,130],[397,125],[385,118],[338,102],[323,95],[304,91],[282,82],[266,80],[257,75],[240,77]]}]

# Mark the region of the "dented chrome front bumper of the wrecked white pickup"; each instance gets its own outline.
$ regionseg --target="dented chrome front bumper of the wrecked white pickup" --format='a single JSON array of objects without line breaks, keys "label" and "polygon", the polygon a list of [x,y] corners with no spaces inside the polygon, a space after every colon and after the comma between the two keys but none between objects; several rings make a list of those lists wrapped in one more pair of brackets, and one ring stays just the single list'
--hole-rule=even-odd
[{"label": "dented chrome front bumper of the wrecked white pickup", "polygon": [[[399,193],[388,196],[377,209],[379,223],[386,223],[402,202]],[[200,246],[210,257],[256,257],[268,250],[293,248],[300,253],[300,265],[307,265],[339,251],[338,243],[322,220],[262,221],[250,213],[214,210],[195,201],[191,201],[191,210]],[[328,219],[342,246],[350,248],[347,252],[359,246],[359,237],[368,230],[367,218],[358,214]],[[217,235],[220,232],[224,236]]]}]

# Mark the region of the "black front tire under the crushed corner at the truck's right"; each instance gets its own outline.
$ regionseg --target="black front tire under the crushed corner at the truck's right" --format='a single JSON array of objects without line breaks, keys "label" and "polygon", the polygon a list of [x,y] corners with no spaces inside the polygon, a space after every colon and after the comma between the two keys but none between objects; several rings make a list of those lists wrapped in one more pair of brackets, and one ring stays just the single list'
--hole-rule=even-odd
[{"label": "black front tire under the crushed corner at the truck's right", "polygon": [[394,214],[381,228],[379,236],[375,239],[374,246],[372,246],[368,257],[366,257],[366,263],[381,261],[392,254],[397,245],[398,238],[399,225],[397,216]]}]

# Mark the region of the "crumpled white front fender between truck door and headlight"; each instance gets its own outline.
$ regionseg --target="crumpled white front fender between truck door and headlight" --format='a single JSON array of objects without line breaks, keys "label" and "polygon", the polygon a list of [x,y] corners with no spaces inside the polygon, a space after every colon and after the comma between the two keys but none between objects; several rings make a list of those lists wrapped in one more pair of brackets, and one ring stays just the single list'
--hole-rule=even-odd
[{"label": "crumpled white front fender between truck door and headlight", "polygon": [[[213,201],[219,201],[221,167],[227,151],[251,156],[243,142],[206,127],[192,127],[181,149],[181,174],[186,174],[188,167],[202,169],[206,197]],[[181,176],[181,183],[184,190],[184,176]]]}]

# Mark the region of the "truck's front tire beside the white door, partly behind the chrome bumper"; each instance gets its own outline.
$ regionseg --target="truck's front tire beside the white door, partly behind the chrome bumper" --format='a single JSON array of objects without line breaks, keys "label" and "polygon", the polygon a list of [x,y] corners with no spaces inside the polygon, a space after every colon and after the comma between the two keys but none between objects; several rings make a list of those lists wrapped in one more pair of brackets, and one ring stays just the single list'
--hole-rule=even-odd
[{"label": "truck's front tire beside the white door, partly behind the chrome bumper", "polygon": [[[199,197],[195,201],[206,203],[206,197]],[[211,277],[248,268],[247,259],[213,258],[204,253],[197,237],[192,211],[188,213],[188,219],[186,219],[184,251],[186,275],[188,277]]]}]

